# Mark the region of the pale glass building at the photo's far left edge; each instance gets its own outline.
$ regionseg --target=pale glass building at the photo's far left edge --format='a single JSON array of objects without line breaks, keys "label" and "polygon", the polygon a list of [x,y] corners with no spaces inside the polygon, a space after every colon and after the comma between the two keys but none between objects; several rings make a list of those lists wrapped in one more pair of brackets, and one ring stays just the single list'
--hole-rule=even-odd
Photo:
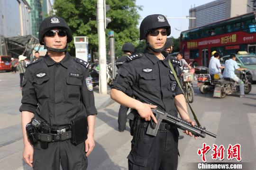
[{"label": "pale glass building at the photo's far left edge", "polygon": [[31,34],[31,7],[26,0],[0,0],[0,55],[6,55],[4,38]]}]

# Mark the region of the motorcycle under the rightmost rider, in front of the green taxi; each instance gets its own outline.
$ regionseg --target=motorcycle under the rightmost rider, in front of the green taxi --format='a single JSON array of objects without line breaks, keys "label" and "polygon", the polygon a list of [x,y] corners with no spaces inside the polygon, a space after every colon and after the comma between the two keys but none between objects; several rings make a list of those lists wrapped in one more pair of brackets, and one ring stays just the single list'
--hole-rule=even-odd
[{"label": "motorcycle under the rightmost rider, in front of the green taxi", "polygon": [[[248,94],[252,90],[252,84],[248,81],[247,71],[240,71],[239,78],[245,84],[245,94]],[[218,83],[216,83],[213,97],[225,98],[226,95],[239,91],[239,84],[236,81],[224,77],[222,80],[219,80]]]}]

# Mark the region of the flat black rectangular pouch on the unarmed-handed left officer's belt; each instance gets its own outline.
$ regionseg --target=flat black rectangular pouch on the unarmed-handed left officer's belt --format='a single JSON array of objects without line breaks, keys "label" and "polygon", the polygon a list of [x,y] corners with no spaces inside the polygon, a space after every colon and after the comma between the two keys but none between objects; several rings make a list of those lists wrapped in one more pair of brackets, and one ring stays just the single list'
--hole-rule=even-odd
[{"label": "flat black rectangular pouch on the unarmed-handed left officer's belt", "polygon": [[79,144],[87,139],[87,118],[86,116],[81,116],[71,121],[71,143]]}]

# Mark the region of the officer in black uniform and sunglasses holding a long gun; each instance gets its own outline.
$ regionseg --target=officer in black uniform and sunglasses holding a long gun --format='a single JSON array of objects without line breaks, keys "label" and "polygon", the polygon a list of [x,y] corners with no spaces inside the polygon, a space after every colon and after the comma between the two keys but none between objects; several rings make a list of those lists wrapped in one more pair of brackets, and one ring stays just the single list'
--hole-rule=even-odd
[{"label": "officer in black uniform and sunglasses holding a long gun", "polygon": [[[180,62],[165,52],[164,45],[170,33],[171,27],[165,16],[155,14],[144,18],[140,25],[140,40],[146,40],[145,52],[128,56],[111,85],[111,98],[130,107],[136,118],[142,118],[138,140],[132,143],[128,155],[129,170],[177,169],[179,132],[174,126],[163,122],[156,136],[146,134],[146,127],[152,119],[157,122],[151,108],[158,107],[173,116],[177,116],[178,110],[183,120],[194,125],[168,64],[170,60],[180,76]],[[124,93],[130,87],[135,98]],[[192,136],[191,132],[184,133]]]}]

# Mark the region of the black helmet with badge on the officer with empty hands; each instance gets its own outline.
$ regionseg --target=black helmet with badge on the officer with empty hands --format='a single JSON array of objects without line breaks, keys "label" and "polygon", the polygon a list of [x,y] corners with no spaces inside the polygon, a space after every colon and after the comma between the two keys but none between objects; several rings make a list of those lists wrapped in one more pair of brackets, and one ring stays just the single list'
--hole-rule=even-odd
[{"label": "black helmet with badge on the officer with empty hands", "polygon": [[61,17],[52,16],[52,17],[45,18],[39,27],[39,37],[38,38],[39,38],[39,42],[41,45],[45,45],[44,44],[44,35],[46,34],[46,32],[51,29],[54,29],[54,28],[61,28],[64,31],[66,31],[67,43],[70,43],[72,41],[72,39],[73,39],[72,32],[71,32],[70,28],[68,27],[66,21]]}]

